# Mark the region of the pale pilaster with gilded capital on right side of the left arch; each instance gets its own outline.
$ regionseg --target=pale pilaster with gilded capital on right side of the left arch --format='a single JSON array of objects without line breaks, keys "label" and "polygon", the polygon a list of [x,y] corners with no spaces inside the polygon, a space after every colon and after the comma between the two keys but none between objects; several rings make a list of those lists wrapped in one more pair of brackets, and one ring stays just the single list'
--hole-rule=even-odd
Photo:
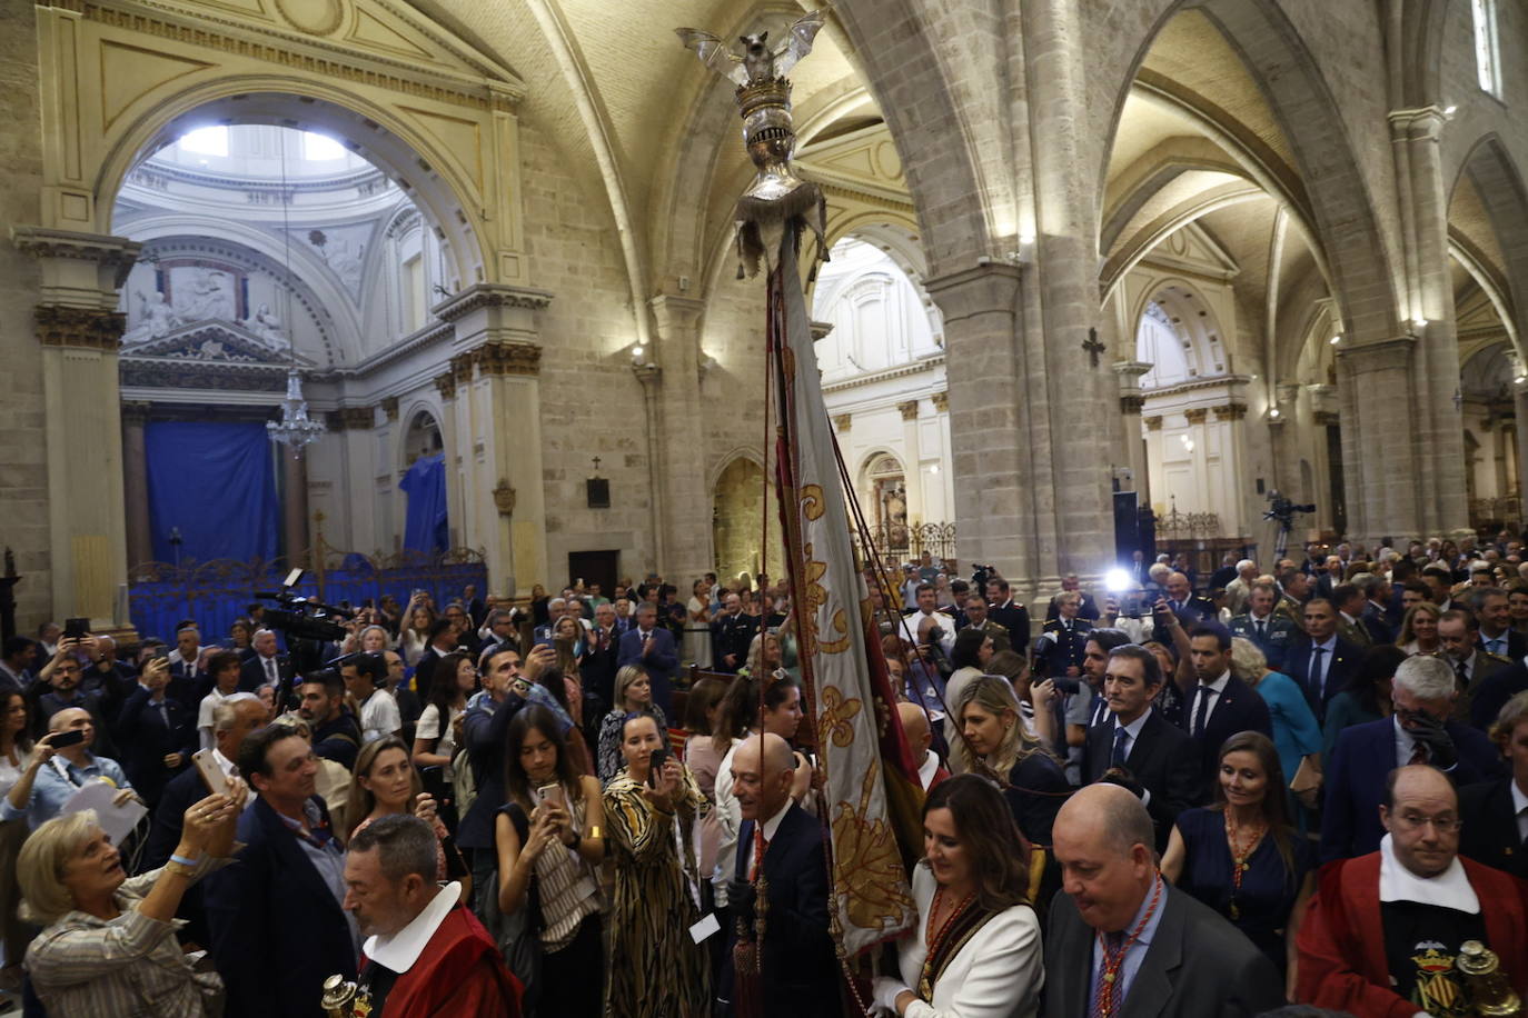
[{"label": "pale pilaster with gilded capital on right side of the left arch", "polygon": [[[457,542],[487,559],[489,588],[529,592],[547,583],[547,510],[541,458],[541,334],[545,290],[478,284],[439,304],[455,327],[451,382],[443,383],[446,461],[458,488]],[[449,395],[448,395],[449,391]],[[500,510],[513,490],[509,525]],[[460,505],[460,508],[457,508]]]}]

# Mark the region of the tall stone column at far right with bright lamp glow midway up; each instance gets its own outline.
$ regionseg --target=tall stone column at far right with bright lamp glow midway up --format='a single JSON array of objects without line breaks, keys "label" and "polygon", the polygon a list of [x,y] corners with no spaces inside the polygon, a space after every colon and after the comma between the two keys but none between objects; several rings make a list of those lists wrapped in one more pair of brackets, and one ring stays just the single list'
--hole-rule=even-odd
[{"label": "tall stone column at far right with bright lamp glow midway up", "polygon": [[[1470,507],[1464,484],[1464,429],[1455,403],[1459,337],[1449,270],[1449,185],[1439,145],[1445,118],[1438,107],[1426,107],[1395,110],[1389,121],[1401,198],[1406,307],[1418,339],[1410,383],[1416,455],[1404,472],[1421,496],[1423,530],[1458,537],[1470,533]],[[1345,462],[1351,461],[1345,458]]]}]

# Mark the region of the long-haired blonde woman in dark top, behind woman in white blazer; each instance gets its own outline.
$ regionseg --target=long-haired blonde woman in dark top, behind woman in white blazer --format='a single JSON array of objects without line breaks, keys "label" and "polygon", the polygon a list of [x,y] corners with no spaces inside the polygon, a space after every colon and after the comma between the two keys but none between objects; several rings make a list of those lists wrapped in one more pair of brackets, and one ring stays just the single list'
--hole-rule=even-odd
[{"label": "long-haired blonde woman in dark top, behind woman in white blazer", "polygon": [[1022,723],[1013,685],[998,675],[976,676],[961,690],[953,716],[960,737],[950,752],[960,755],[966,772],[1001,784],[1024,836],[1048,847],[1071,786],[1056,757]]}]

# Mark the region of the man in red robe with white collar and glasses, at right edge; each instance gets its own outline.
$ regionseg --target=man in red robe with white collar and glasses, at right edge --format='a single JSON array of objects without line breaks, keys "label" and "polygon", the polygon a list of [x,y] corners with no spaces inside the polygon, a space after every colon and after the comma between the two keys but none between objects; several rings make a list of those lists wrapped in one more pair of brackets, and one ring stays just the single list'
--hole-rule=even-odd
[{"label": "man in red robe with white collar and glasses, at right edge", "polygon": [[1475,1015],[1456,968],[1464,942],[1494,951],[1528,995],[1528,888],[1459,858],[1459,797],[1436,768],[1386,781],[1380,850],[1322,870],[1300,925],[1296,1000],[1357,1018]]}]

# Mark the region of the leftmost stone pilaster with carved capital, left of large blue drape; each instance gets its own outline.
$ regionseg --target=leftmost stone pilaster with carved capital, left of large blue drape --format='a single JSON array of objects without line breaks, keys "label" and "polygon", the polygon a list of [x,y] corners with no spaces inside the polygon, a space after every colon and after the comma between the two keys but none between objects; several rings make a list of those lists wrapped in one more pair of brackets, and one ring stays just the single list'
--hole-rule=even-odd
[{"label": "leftmost stone pilaster with carved capital, left of large blue drape", "polygon": [[122,626],[115,606],[127,585],[118,385],[125,316],[116,305],[142,246],[35,226],[15,226],[11,237],[41,269],[34,319],[43,345],[52,615],[86,615],[101,630]]}]

